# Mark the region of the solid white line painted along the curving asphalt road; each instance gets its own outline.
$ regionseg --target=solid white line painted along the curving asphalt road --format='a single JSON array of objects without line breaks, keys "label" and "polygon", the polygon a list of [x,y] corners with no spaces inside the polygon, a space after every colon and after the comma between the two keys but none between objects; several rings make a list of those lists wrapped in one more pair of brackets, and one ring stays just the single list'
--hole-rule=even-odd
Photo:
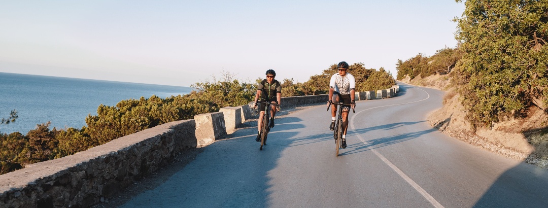
[{"label": "solid white line painted along the curving asphalt road", "polygon": [[[420,88],[416,88],[416,89],[419,89],[419,90],[423,90],[423,89],[420,89]],[[424,91],[424,90],[423,90]],[[424,91],[426,93],[426,91]],[[430,98],[430,94],[426,93],[426,95],[428,95],[428,97],[426,97],[426,99],[423,99],[423,100],[419,100],[419,101],[413,101],[413,102],[406,102],[406,103],[399,103],[399,104],[392,104],[392,105],[386,105],[386,106],[397,106],[397,105],[404,105],[404,104],[409,104],[409,103],[414,103],[414,102],[420,102],[420,101],[424,101],[424,100],[427,100]],[[364,111],[367,111],[369,109],[374,109],[374,108],[380,108],[380,107],[386,107],[386,106],[378,106],[378,107],[373,107],[373,108],[367,108],[367,109],[364,109],[362,111],[359,111],[357,113],[355,113],[352,118],[350,119],[350,125],[352,126],[352,129],[356,129],[354,128],[354,118],[356,118],[356,115],[358,113],[361,113],[361,112],[364,112]],[[365,140],[363,140],[362,136],[358,134],[358,138],[359,140],[361,140],[363,143],[366,143]],[[384,161],[384,163],[388,166],[390,166],[392,168],[392,170],[396,171],[396,173],[403,178],[403,180],[406,180],[407,183],[409,183],[409,185],[411,185],[417,192],[419,192],[421,195],[423,195],[423,197],[428,200],[434,207],[436,208],[443,208],[443,205],[439,204],[439,202],[434,199],[432,197],[432,195],[430,195],[428,192],[426,192],[426,190],[424,190],[423,188],[421,188],[419,186],[419,184],[415,183],[415,181],[413,181],[409,176],[407,176],[406,174],[403,173],[403,171],[399,170],[398,167],[396,167],[396,165],[392,164],[390,162],[390,160],[386,159],[382,154],[380,154],[379,152],[377,152],[375,149],[372,149],[372,148],[369,148],[369,146],[367,146],[367,148],[375,153],[375,155],[377,155],[377,157],[379,157],[381,160]]]}]

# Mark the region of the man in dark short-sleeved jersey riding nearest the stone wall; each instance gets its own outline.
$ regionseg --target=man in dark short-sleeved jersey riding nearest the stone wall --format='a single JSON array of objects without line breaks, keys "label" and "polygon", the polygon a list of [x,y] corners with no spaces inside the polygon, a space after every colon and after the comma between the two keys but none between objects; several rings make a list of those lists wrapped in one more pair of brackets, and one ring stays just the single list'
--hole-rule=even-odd
[{"label": "man in dark short-sleeved jersey riding nearest the stone wall", "polygon": [[[255,104],[254,107],[257,107],[257,101],[259,100],[259,96],[262,96],[263,99],[266,101],[270,101],[272,103],[277,103],[276,108],[272,108],[270,118],[270,128],[274,127],[274,115],[276,115],[276,111],[279,111],[280,102],[282,99],[282,85],[278,82],[278,80],[274,79],[276,77],[276,72],[274,70],[267,70],[266,71],[266,79],[263,79],[258,85],[257,85],[257,94],[255,95]],[[260,114],[259,114],[259,120],[257,121],[257,126],[259,129],[259,132],[257,134],[257,138],[255,141],[261,141],[261,125],[262,125],[262,117],[265,115],[265,107],[266,105],[264,103],[260,103]]]}]

